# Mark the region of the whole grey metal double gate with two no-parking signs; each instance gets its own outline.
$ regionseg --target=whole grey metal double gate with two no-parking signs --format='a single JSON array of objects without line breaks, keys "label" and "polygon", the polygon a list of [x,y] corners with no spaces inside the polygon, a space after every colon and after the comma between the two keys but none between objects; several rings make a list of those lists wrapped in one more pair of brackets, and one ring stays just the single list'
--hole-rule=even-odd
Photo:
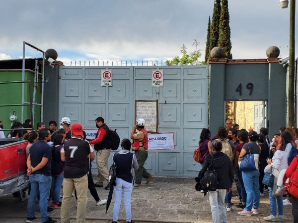
[{"label": "whole grey metal double gate with two no-parking signs", "polygon": [[[112,87],[101,87],[102,69],[113,70]],[[151,87],[152,69],[163,70],[163,87]],[[175,150],[150,151],[146,168],[154,175],[197,174],[200,165],[192,156],[201,129],[208,127],[208,66],[62,66],[59,72],[59,118],[94,128],[102,116],[129,138],[135,100],[158,100],[158,131],[174,132]]]}]

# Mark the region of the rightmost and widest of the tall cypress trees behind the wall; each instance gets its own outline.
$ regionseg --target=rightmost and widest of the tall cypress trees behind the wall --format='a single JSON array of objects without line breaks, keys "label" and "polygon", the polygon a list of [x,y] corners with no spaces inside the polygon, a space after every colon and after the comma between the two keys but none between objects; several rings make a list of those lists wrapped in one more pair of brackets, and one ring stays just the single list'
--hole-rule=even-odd
[{"label": "rightmost and widest of the tall cypress trees behind the wall", "polygon": [[231,40],[227,0],[222,0],[218,46],[224,49],[224,58],[231,59]]}]

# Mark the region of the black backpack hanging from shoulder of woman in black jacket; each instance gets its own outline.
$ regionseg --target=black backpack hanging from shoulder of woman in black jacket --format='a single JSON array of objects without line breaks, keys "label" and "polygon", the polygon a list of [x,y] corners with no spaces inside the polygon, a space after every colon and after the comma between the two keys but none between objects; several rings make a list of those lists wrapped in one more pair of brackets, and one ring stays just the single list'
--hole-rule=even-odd
[{"label": "black backpack hanging from shoulder of woman in black jacket", "polygon": [[217,188],[218,188],[217,173],[213,167],[213,156],[211,155],[211,165],[205,171],[202,179],[196,186],[196,189],[204,190],[204,191],[216,191]]}]

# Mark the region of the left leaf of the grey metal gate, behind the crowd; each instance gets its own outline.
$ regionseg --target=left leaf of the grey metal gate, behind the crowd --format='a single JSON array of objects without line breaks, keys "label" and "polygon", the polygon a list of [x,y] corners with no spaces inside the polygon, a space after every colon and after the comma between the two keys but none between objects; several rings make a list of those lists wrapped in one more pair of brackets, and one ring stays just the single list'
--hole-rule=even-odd
[{"label": "left leaf of the grey metal gate, behind the crowd", "polygon": [[[113,70],[112,87],[101,86],[102,69]],[[121,139],[130,137],[134,106],[132,67],[64,66],[59,72],[59,118],[68,116],[72,123],[94,129],[95,118],[102,116],[111,129],[117,129]],[[92,163],[96,173],[96,162]]]}]

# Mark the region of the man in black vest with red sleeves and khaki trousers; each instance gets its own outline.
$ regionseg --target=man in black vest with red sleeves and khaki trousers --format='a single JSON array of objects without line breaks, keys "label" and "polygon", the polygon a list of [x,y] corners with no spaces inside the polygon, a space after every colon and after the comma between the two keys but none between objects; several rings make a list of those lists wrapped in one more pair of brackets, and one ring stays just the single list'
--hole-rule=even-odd
[{"label": "man in black vest with red sleeves and khaki trousers", "polygon": [[[110,129],[104,123],[102,117],[95,119],[95,125],[98,129],[96,133],[96,138],[90,140],[90,144],[94,145],[94,150],[96,150],[96,164],[98,168],[97,182],[94,183],[96,187],[103,187],[103,181],[108,181],[109,171],[107,169],[108,159],[111,154],[110,149]],[[110,186],[105,187],[106,190],[110,189]]]}]

